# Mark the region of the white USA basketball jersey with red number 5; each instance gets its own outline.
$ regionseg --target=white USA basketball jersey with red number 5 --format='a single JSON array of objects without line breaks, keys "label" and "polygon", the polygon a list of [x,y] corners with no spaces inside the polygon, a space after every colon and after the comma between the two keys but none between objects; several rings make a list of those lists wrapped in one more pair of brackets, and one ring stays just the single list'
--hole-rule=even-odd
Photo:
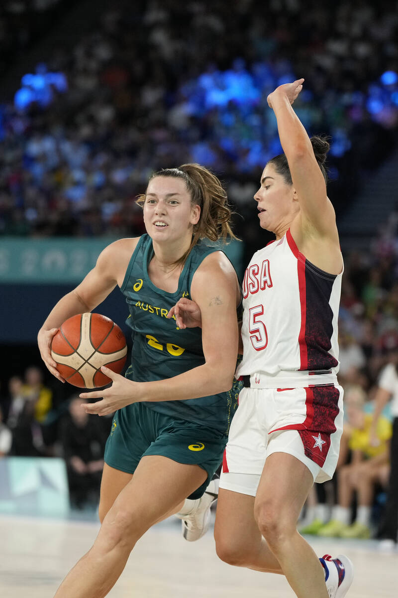
[{"label": "white USA basketball jersey with red number 5", "polygon": [[243,360],[257,388],[333,383],[342,273],[311,264],[287,231],[257,251],[243,280]]}]

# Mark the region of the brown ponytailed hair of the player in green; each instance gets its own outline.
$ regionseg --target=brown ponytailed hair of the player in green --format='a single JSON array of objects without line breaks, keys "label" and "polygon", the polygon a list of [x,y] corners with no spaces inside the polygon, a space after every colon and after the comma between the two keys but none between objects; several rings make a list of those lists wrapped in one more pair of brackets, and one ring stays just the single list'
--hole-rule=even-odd
[{"label": "brown ponytailed hair of the player in green", "polygon": [[[154,172],[149,181],[156,176],[172,176],[183,179],[191,195],[192,205],[200,206],[198,224],[193,225],[193,237],[188,251],[176,264],[184,263],[189,253],[199,239],[226,242],[227,237],[237,239],[230,227],[232,210],[227,201],[227,193],[221,182],[210,170],[200,164],[182,164],[178,168],[165,168]],[[137,203],[143,206],[146,194],[137,198]]]}]

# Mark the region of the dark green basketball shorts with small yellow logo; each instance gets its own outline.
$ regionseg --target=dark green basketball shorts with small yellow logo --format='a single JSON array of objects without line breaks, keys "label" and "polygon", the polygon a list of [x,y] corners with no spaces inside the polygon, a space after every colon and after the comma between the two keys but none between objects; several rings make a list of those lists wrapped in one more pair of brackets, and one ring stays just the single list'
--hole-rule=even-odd
[{"label": "dark green basketball shorts with small yellow logo", "polygon": [[141,457],[161,455],[177,463],[199,465],[206,481],[188,498],[202,496],[223,460],[227,435],[199,423],[176,420],[137,402],[116,411],[106,441],[107,465],[133,474]]}]

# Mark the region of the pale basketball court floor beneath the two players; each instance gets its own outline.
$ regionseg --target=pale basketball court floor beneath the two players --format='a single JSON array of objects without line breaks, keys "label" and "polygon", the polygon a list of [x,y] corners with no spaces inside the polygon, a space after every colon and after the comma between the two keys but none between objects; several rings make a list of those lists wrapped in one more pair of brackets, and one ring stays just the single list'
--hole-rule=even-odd
[{"label": "pale basketball court floor beneath the two players", "polygon": [[[95,521],[0,516],[1,598],[51,598],[61,579],[94,541]],[[398,552],[374,541],[311,538],[319,556],[347,554],[355,566],[347,598],[398,596]],[[140,539],[111,598],[294,598],[279,575],[221,562],[211,531],[186,542],[180,521],[159,523]],[[308,598],[311,598],[310,596]]]}]

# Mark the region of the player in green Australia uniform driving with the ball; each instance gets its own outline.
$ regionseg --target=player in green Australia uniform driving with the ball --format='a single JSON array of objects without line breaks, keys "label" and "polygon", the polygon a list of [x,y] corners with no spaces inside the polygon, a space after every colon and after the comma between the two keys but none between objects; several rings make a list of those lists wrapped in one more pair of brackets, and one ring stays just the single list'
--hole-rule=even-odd
[{"label": "player in green Australia uniform driving with the ball", "polygon": [[[213,492],[201,497],[221,463],[240,390],[233,383],[239,283],[226,255],[206,245],[232,235],[220,181],[198,164],[184,164],[155,173],[142,202],[147,234],[107,246],[38,334],[48,370],[62,380],[50,353],[58,327],[90,312],[116,285],[125,295],[131,366],[126,377],[103,368],[112,386],[81,395],[101,398],[85,405],[88,413],[116,411],[104,457],[101,529],[57,598],[106,596],[135,542],[171,514],[184,519],[187,539],[203,534]],[[180,297],[200,306],[201,331],[179,329],[167,318]]]}]

